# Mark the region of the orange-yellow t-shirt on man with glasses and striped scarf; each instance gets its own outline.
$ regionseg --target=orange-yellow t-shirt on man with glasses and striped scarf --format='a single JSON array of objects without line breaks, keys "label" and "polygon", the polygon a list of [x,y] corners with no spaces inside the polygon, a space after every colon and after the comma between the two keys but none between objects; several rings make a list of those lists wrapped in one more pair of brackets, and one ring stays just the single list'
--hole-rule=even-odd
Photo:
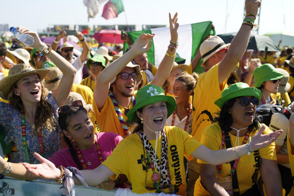
[{"label": "orange-yellow t-shirt on man with glasses and striped scarf", "polygon": [[[137,91],[134,92],[135,98],[136,98],[136,93]],[[130,130],[130,127],[133,125],[133,123],[128,120],[128,118],[126,117],[127,112],[125,111],[130,110],[132,107],[133,107],[132,102],[130,103],[129,108],[119,105],[119,109],[122,112],[123,119],[129,130]],[[96,116],[97,125],[100,128],[100,132],[114,132],[124,137],[124,130],[121,126],[121,123],[115,111],[115,107],[109,96],[107,96],[107,99],[101,111],[98,110],[96,101],[93,101],[93,110]]]}]

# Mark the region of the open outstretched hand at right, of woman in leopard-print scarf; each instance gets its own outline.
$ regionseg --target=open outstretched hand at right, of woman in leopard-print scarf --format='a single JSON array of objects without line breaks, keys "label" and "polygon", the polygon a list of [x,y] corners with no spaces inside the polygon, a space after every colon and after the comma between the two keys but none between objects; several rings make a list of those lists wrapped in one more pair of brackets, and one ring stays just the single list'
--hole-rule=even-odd
[{"label": "open outstretched hand at right, of woman in leopard-print scarf", "polygon": [[249,149],[251,151],[254,150],[259,150],[262,149],[272,142],[276,141],[276,139],[281,135],[283,130],[278,130],[269,134],[262,134],[263,131],[265,130],[266,126],[263,125],[257,132],[257,134],[254,135],[252,138],[250,144],[249,144]]}]

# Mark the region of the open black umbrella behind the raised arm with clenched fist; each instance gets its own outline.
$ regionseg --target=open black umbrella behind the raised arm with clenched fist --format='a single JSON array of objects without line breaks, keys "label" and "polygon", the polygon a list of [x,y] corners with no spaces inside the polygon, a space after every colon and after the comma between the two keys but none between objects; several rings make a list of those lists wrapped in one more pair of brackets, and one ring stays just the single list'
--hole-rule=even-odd
[{"label": "open black umbrella behind the raised arm with clenched fist", "polygon": [[[220,34],[219,36],[224,43],[231,43],[237,33]],[[251,34],[247,49],[258,51],[280,51],[279,47],[268,36],[262,36],[257,34]]]}]

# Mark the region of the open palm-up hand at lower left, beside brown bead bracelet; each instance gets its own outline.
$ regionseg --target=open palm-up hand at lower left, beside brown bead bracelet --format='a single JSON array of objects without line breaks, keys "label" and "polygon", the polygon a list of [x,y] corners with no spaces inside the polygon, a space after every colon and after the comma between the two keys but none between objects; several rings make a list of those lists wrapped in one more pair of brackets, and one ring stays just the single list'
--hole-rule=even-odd
[{"label": "open palm-up hand at lower left, beside brown bead bracelet", "polygon": [[57,179],[60,176],[60,170],[56,168],[51,161],[43,158],[38,153],[34,153],[34,157],[36,157],[36,159],[38,159],[41,164],[23,163],[23,165],[29,172],[38,176],[39,178],[49,180]]}]

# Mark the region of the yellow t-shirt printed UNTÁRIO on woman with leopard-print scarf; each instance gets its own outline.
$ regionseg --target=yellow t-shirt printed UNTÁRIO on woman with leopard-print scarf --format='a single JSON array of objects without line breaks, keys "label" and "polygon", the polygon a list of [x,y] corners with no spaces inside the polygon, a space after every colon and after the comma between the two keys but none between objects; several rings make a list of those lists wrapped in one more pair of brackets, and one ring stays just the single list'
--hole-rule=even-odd
[{"label": "yellow t-shirt printed UNT\u00c1RIO on woman with leopard-print scarf", "polygon": [[[202,144],[178,127],[164,126],[164,131],[168,142],[168,165],[173,188],[177,195],[186,195],[187,184],[183,156],[188,157]],[[149,142],[155,149],[156,139],[149,140]],[[158,138],[156,155],[161,160],[161,136]],[[151,180],[153,173],[138,134],[135,133],[123,139],[102,164],[116,175],[125,174],[132,183],[134,193],[156,192],[156,190],[145,188],[146,167],[148,168],[147,186],[153,187],[154,182]],[[169,193],[168,189],[165,189],[164,193]]]}]

